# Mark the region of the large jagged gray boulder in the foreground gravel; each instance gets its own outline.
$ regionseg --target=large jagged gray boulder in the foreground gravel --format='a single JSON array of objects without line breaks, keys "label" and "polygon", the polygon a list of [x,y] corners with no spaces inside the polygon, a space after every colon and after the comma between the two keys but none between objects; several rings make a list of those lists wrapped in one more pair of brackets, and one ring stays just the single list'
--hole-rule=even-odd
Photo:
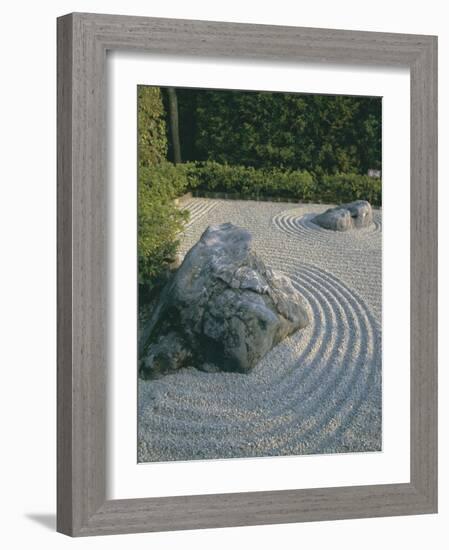
[{"label": "large jagged gray boulder in the foreground gravel", "polygon": [[143,331],[140,375],[182,367],[248,372],[287,335],[308,324],[291,281],[251,249],[251,235],[210,226],[163,289]]}]

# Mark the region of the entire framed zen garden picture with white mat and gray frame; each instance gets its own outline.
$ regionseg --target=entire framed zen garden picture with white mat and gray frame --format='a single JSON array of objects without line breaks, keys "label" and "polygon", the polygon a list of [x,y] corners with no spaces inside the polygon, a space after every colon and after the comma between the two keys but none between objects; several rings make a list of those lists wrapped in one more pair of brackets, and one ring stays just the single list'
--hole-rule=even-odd
[{"label": "entire framed zen garden picture with white mat and gray frame", "polygon": [[436,37],[59,18],[58,531],[436,511]]}]

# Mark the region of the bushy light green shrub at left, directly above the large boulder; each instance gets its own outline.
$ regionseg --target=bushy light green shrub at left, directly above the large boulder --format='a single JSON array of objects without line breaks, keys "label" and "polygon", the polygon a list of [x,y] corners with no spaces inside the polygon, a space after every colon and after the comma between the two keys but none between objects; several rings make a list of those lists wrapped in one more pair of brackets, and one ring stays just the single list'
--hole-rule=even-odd
[{"label": "bushy light green shrub at left, directly above the large boulder", "polygon": [[187,188],[186,170],[167,161],[139,168],[139,283],[152,287],[173,262],[178,235],[188,218],[174,199]]}]

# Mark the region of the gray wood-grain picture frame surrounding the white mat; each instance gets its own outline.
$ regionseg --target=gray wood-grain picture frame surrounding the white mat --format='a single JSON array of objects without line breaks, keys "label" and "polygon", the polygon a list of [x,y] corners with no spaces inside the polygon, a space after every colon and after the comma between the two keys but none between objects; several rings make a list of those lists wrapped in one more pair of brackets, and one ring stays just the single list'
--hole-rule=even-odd
[{"label": "gray wood-grain picture frame surrounding the white mat", "polygon": [[[410,483],[106,500],[107,50],[411,71]],[[58,19],[57,529],[72,536],[437,511],[437,38],[75,13]]]}]

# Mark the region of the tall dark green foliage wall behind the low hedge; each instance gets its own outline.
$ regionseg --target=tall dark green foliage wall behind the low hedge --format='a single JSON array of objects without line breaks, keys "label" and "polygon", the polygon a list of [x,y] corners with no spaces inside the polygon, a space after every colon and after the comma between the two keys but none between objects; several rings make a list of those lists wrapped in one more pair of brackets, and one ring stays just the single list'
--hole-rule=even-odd
[{"label": "tall dark green foliage wall behind the low hedge", "polygon": [[178,89],[184,160],[316,174],[381,167],[381,99]]}]

